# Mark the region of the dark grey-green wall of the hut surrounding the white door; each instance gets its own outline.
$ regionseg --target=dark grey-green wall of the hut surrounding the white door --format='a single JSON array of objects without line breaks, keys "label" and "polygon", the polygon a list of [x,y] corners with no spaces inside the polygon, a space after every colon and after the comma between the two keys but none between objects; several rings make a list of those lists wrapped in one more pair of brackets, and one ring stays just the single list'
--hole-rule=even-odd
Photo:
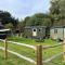
[{"label": "dark grey-green wall of the hut surrounding the white door", "polygon": [[[32,30],[37,29],[37,36],[32,36]],[[46,27],[29,27],[25,28],[25,37],[27,38],[44,38],[46,37]]]}]

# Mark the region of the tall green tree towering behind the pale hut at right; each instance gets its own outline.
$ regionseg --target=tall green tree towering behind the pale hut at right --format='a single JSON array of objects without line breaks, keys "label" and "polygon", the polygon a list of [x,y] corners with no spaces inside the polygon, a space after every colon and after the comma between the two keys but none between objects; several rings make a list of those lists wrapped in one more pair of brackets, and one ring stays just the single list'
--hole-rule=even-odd
[{"label": "tall green tree towering behind the pale hut at right", "polygon": [[54,26],[65,25],[65,0],[52,0],[50,8],[51,20]]}]

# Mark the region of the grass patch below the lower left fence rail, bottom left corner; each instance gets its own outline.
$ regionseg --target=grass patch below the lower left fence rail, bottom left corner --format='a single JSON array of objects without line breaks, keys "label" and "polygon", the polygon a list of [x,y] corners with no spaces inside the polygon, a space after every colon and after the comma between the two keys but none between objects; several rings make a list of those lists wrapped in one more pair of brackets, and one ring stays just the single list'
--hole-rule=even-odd
[{"label": "grass patch below the lower left fence rail, bottom left corner", "polygon": [[4,60],[3,55],[3,51],[0,50],[0,65],[34,65],[10,53],[8,60]]}]

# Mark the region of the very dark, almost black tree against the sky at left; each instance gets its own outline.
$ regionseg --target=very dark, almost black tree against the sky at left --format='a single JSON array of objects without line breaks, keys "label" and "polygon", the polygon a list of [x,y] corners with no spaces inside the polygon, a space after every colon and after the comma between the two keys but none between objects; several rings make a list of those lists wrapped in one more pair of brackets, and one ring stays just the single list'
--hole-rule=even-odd
[{"label": "very dark, almost black tree against the sky at left", "polygon": [[0,11],[0,22],[3,25],[12,23],[13,26],[15,27],[17,25],[18,21],[15,17],[13,17],[9,12]]}]

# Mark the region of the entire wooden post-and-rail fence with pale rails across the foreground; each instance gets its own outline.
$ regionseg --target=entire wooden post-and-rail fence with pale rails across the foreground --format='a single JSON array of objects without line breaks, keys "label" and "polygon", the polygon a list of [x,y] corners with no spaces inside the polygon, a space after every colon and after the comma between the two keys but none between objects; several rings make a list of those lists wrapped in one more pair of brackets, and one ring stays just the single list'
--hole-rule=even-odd
[{"label": "entire wooden post-and-rail fence with pale rails across the foreground", "polygon": [[[64,58],[64,62],[65,62],[65,40],[64,40],[64,42],[52,46],[52,47],[51,46],[47,46],[47,47],[44,47],[44,46],[29,46],[29,44],[20,43],[20,42],[8,41],[6,39],[5,40],[0,39],[0,41],[4,42],[4,48],[0,47],[1,50],[4,50],[4,60],[8,58],[8,52],[10,52],[10,53],[12,53],[12,54],[14,54],[14,55],[16,55],[21,58],[24,58],[24,60],[26,60],[30,63],[34,63],[35,65],[44,65],[44,63],[48,63],[48,62],[52,61],[53,58],[55,58],[55,57],[57,57],[62,54],[63,54],[63,58]],[[22,55],[22,54],[18,54],[16,52],[8,50],[8,42],[34,49],[36,51],[36,54],[37,54],[37,61],[34,61],[29,57],[26,57],[26,56]],[[63,52],[61,52],[58,54],[55,54],[55,55],[51,56],[50,58],[47,58],[46,61],[42,61],[42,50],[50,49],[50,48],[55,48],[55,47],[58,47],[58,46],[63,46]]]}]

